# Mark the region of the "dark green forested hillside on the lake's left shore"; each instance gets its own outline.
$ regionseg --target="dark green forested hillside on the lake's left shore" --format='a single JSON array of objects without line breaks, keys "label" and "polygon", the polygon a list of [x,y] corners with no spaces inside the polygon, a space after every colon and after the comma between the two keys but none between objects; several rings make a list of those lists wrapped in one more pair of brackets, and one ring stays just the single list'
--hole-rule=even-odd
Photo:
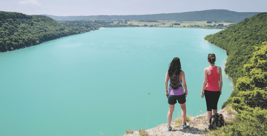
[{"label": "dark green forested hillside on the lake's left shore", "polygon": [[64,26],[44,15],[0,11],[0,52],[87,31],[86,27]]}]

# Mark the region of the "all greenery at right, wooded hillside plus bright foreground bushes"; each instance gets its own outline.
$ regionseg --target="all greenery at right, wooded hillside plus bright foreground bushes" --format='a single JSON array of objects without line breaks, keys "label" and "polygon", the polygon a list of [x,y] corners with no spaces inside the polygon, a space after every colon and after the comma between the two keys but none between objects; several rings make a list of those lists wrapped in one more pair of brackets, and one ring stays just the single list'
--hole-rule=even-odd
[{"label": "all greenery at right, wooded hillside plus bright foreground bushes", "polygon": [[205,37],[226,50],[225,71],[235,90],[222,105],[237,111],[227,127],[211,135],[267,135],[267,12]]}]

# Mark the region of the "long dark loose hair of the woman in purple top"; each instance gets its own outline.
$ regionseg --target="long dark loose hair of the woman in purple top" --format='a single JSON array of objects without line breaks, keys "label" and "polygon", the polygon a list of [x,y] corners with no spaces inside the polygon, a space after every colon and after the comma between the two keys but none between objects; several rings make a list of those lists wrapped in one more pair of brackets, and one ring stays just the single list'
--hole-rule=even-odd
[{"label": "long dark loose hair of the woman in purple top", "polygon": [[181,68],[181,62],[180,59],[175,57],[172,59],[171,63],[169,64],[169,70],[168,70],[168,75],[169,77],[174,75],[180,75],[180,72],[182,71]]}]

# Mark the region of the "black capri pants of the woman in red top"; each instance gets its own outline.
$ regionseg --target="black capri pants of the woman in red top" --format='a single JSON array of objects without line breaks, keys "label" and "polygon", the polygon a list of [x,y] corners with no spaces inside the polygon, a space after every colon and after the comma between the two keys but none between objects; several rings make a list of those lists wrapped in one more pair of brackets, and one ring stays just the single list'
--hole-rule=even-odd
[{"label": "black capri pants of the woman in red top", "polygon": [[212,109],[216,110],[220,98],[220,91],[204,90],[204,96],[206,99],[207,111],[212,111]]}]

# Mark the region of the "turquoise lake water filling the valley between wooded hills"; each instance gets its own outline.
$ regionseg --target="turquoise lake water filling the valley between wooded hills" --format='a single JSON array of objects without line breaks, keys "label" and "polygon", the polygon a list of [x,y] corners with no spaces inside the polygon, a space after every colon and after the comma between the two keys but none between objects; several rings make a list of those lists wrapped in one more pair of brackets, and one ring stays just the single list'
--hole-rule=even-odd
[{"label": "turquoise lake water filling the valley between wooded hills", "polygon": [[[187,113],[202,114],[207,55],[222,69],[227,58],[203,39],[219,31],[104,28],[0,53],[0,135],[109,136],[165,124],[164,80],[174,57],[185,73]],[[223,74],[218,109],[232,91]],[[173,119],[181,114],[175,107]]]}]

